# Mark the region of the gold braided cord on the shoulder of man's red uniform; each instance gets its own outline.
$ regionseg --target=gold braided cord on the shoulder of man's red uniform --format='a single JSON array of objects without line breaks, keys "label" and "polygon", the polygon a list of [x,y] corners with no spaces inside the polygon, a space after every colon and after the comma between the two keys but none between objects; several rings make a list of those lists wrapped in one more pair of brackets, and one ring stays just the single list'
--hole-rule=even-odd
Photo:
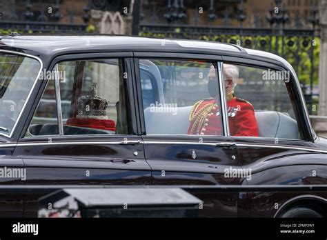
[{"label": "gold braided cord on the shoulder of man's red uniform", "polygon": [[[197,105],[197,103],[195,103]],[[215,103],[208,103],[205,106],[203,106],[201,109],[199,109],[196,113],[195,110],[197,110],[197,107],[194,108],[194,110],[190,114],[190,121],[192,122],[192,128],[190,130],[190,134],[197,134],[199,132],[200,127],[204,126],[204,122],[206,121],[206,118],[208,117],[208,114],[212,112],[212,109],[217,107]],[[195,132],[195,128],[197,128],[197,132]]]}]

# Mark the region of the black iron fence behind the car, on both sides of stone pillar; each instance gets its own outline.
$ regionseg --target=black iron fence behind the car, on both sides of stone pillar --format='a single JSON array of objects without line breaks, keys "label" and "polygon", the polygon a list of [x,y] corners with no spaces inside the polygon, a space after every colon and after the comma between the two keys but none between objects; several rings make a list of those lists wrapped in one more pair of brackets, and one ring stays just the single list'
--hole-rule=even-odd
[{"label": "black iron fence behind the car, on both sides of stone pillar", "polygon": [[[278,54],[297,71],[312,114],[318,101],[317,0],[306,1],[312,3],[306,14],[298,11],[292,16],[288,14],[289,0],[271,0],[266,10],[248,14],[249,2],[135,0],[132,29],[141,36],[226,42]],[[129,8],[130,1],[0,0],[0,32],[85,33],[91,9],[122,12],[123,6]]]}]

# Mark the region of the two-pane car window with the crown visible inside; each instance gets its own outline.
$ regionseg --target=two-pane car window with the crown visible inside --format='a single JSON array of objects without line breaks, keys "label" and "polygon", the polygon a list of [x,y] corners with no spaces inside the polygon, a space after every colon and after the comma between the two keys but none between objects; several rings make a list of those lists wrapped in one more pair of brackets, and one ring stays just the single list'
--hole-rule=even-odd
[{"label": "two-pane car window with the crown visible inside", "polygon": [[[123,60],[57,64],[63,134],[128,134]],[[48,81],[26,136],[59,134],[53,79]]]}]

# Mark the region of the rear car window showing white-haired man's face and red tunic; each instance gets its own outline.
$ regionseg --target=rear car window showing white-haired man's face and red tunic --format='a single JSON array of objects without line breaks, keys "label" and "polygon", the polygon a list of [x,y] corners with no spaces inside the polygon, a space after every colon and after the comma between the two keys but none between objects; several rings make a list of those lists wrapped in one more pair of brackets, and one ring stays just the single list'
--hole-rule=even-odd
[{"label": "rear car window showing white-haired man's face and red tunic", "polygon": [[302,139],[290,72],[224,63],[223,75],[231,136]]}]

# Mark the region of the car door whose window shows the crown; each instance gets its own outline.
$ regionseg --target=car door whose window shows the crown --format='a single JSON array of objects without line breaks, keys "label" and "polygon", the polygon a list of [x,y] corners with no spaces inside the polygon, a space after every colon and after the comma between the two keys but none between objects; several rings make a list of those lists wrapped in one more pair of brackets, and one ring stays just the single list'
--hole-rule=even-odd
[{"label": "car door whose window shows the crown", "polygon": [[[45,90],[14,152],[23,159],[27,185],[150,183],[127,56],[54,60],[54,79],[43,79]],[[26,199],[27,215],[37,197]]]}]

